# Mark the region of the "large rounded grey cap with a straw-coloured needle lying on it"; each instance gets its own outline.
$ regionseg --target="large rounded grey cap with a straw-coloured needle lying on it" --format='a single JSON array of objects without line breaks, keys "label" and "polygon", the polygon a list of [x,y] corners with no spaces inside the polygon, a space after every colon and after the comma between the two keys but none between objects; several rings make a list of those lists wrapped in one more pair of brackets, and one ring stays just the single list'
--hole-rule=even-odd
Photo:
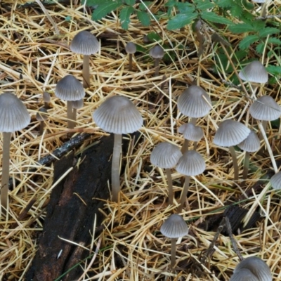
[{"label": "large rounded grey cap with a straw-coloured needle lying on it", "polygon": [[192,85],[188,87],[178,98],[178,110],[185,116],[200,118],[211,110],[211,99],[200,87]]}]

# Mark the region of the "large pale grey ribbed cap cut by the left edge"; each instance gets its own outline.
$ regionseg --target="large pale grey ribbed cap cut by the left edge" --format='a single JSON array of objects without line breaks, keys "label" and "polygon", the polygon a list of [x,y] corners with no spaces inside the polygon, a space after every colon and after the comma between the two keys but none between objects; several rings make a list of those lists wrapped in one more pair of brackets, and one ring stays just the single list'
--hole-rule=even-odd
[{"label": "large pale grey ribbed cap cut by the left edge", "polygon": [[0,131],[13,133],[30,124],[30,115],[22,101],[13,93],[0,95]]}]

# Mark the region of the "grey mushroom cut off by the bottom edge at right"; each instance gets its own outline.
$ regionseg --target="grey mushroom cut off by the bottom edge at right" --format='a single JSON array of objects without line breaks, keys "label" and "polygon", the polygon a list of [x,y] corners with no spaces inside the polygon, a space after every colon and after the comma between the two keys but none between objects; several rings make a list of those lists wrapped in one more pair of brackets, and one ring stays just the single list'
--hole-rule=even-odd
[{"label": "grey mushroom cut off by the bottom edge at right", "polygon": [[[238,275],[240,276],[240,279],[238,279]],[[248,279],[246,276],[248,276]],[[249,258],[240,261],[233,270],[233,276],[229,281],[238,280],[272,281],[272,275],[266,262],[257,256],[250,256]]]}]

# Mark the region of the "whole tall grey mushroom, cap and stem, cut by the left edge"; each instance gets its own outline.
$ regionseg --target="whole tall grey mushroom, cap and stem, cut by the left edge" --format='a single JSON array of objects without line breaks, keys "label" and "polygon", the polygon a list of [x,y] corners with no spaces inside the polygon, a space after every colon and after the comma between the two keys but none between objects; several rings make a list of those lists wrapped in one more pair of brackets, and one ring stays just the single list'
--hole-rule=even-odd
[{"label": "whole tall grey mushroom, cap and stem, cut by the left edge", "polygon": [[0,196],[2,213],[4,213],[3,209],[8,209],[8,178],[11,133],[25,128],[28,124],[30,124],[30,115],[22,101],[13,93],[2,93],[0,95],[0,131],[3,133]]}]

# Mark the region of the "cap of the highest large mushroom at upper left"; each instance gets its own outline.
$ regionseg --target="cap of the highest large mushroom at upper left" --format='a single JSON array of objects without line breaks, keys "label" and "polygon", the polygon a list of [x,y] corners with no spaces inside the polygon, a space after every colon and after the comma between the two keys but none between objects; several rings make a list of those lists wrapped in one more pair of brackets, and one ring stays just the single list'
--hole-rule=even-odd
[{"label": "cap of the highest large mushroom at upper left", "polygon": [[100,50],[100,43],[91,32],[82,30],[73,37],[70,50],[81,55],[93,55]]}]

